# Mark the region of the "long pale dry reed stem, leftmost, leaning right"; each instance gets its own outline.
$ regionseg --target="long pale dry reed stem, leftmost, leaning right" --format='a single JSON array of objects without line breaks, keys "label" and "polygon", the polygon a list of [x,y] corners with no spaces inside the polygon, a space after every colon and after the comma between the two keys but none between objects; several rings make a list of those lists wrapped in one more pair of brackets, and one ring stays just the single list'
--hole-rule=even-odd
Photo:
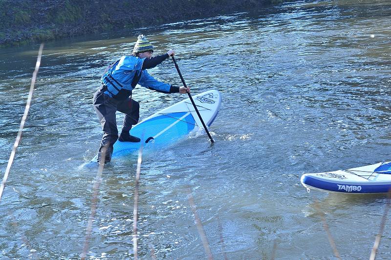
[{"label": "long pale dry reed stem, leftmost, leaning right", "polygon": [[28,98],[27,98],[27,102],[26,102],[26,107],[24,108],[24,113],[23,113],[23,116],[22,116],[21,124],[19,126],[18,135],[16,136],[14,147],[12,148],[12,152],[11,152],[11,155],[10,155],[9,160],[8,160],[7,168],[5,168],[5,173],[4,173],[4,176],[3,176],[3,180],[1,181],[1,184],[0,184],[0,200],[1,200],[1,196],[3,194],[3,190],[4,190],[4,187],[5,187],[5,182],[8,179],[8,175],[9,175],[9,172],[11,170],[12,163],[14,162],[16,149],[18,148],[19,142],[22,139],[22,131],[23,131],[24,123],[26,122],[27,114],[28,114],[28,111],[30,109],[31,100],[33,98],[33,91],[34,91],[35,81],[37,80],[38,70],[39,70],[40,65],[41,65],[42,51],[43,51],[43,43],[41,44],[40,49],[38,51],[37,63],[35,63],[35,69],[34,69],[34,72],[33,72],[33,77],[31,79],[30,91],[28,92]]}]

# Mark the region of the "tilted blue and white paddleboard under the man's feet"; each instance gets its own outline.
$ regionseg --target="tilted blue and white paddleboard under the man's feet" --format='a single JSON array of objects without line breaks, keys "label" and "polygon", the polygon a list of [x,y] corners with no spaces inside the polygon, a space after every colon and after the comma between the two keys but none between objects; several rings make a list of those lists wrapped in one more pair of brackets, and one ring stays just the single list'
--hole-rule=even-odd
[{"label": "tilted blue and white paddleboard under the man's feet", "polygon": [[[207,126],[210,126],[213,120],[215,120],[220,107],[220,92],[209,90],[192,96],[192,98],[202,120]],[[191,100],[189,98],[182,100],[134,125],[130,130],[130,135],[139,137],[141,141],[116,141],[113,146],[114,150],[111,159],[115,160],[119,157],[131,155],[138,151],[141,145],[144,146],[144,150],[167,147],[199,128],[203,129],[203,126]],[[96,162],[96,160],[97,156],[90,163],[82,166],[88,166],[88,164]]]}]

